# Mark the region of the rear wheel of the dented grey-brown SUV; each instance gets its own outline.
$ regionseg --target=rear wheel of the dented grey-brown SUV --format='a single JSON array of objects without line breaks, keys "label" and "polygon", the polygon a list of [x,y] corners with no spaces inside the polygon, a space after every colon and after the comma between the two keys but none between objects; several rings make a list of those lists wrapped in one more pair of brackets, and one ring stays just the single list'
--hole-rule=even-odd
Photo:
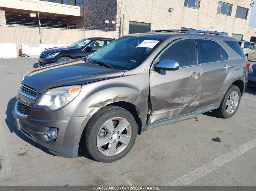
[{"label": "rear wheel of the dented grey-brown SUV", "polygon": [[[233,92],[234,92],[234,97],[232,99],[231,93],[233,93]],[[236,95],[238,96],[238,99],[237,99]],[[228,88],[228,91],[226,92],[226,94],[224,95],[224,97],[221,101],[220,107],[218,109],[214,110],[214,112],[216,113],[216,115],[220,116],[221,118],[224,118],[224,119],[230,118],[238,110],[238,107],[240,104],[240,99],[241,99],[240,89],[235,85],[231,85]],[[231,100],[235,100],[235,101],[232,102]],[[230,105],[227,105],[229,103],[230,103]]]}]

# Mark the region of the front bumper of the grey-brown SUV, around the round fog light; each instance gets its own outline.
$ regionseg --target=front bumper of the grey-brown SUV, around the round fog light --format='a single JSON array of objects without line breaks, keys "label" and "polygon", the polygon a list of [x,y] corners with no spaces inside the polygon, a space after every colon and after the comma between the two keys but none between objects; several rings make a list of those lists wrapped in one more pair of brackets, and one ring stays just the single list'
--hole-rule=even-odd
[{"label": "front bumper of the grey-brown SUV, around the round fog light", "polygon": [[[16,105],[16,104],[15,104]],[[84,127],[91,116],[69,117],[61,110],[52,111],[43,107],[31,107],[28,116],[22,117],[12,111],[15,126],[24,135],[48,151],[65,158],[76,158],[78,146]],[[56,140],[37,132],[57,128]]]}]

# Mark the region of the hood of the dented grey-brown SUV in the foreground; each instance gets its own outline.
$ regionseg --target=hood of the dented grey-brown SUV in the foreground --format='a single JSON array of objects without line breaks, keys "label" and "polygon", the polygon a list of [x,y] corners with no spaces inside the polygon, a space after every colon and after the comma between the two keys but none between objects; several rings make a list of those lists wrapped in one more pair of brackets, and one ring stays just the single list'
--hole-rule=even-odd
[{"label": "hood of the dented grey-brown SUV in the foreground", "polygon": [[78,85],[124,75],[124,70],[105,68],[80,59],[42,66],[25,73],[23,84],[42,93],[49,88]]}]

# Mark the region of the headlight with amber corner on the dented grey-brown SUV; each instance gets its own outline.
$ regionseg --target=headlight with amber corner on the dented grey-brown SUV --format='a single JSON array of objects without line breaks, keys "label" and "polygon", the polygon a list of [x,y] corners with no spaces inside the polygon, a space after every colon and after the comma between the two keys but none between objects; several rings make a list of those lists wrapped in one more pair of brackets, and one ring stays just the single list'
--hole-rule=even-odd
[{"label": "headlight with amber corner on the dented grey-brown SUV", "polygon": [[57,110],[71,102],[81,91],[81,86],[64,86],[48,90],[41,97],[38,105]]}]

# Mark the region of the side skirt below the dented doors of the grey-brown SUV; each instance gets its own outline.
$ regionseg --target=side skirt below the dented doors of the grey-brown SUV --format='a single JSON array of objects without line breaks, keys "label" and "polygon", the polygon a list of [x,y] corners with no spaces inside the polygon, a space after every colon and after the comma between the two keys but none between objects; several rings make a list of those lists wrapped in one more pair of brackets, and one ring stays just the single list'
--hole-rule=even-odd
[{"label": "side skirt below the dented doors of the grey-brown SUV", "polygon": [[187,114],[171,117],[169,119],[162,119],[160,121],[156,121],[156,122],[148,124],[145,127],[142,127],[141,132],[144,132],[148,129],[153,129],[155,127],[160,127],[160,126],[168,125],[168,124],[171,124],[171,123],[176,123],[176,122],[179,122],[179,121],[183,121],[183,120],[186,120],[186,119],[195,118],[199,114],[202,114],[202,113],[205,113],[205,112],[208,112],[208,111],[211,111],[211,110],[218,109],[219,107],[220,107],[220,103],[215,103],[215,104],[211,104],[209,106],[201,107],[201,108],[195,110],[192,113],[187,113]]}]

